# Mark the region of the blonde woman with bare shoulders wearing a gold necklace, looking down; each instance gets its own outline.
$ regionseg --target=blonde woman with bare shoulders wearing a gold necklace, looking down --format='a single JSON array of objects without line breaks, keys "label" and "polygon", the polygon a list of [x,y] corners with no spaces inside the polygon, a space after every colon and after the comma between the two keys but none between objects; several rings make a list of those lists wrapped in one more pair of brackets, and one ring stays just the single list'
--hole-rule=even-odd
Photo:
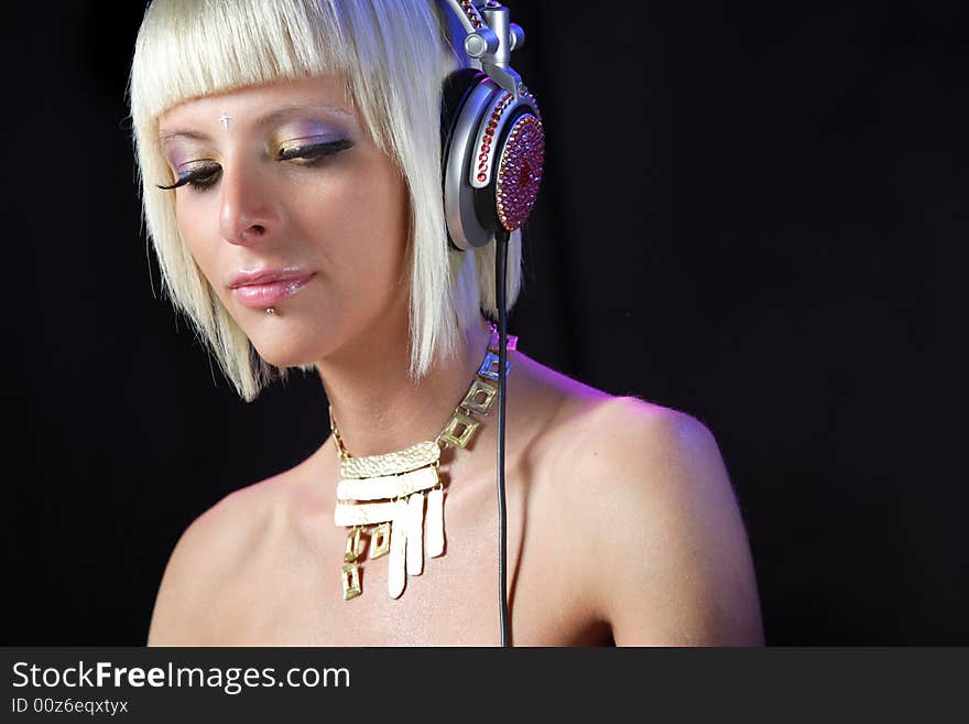
[{"label": "blonde woman with bare shoulders wearing a gold necklace, looking down", "polygon": [[[165,287],[243,398],[290,367],[318,372],[335,433],[193,522],[150,645],[499,641],[494,244],[459,250],[446,230],[442,84],[468,62],[450,13],[145,13],[131,110]],[[514,233],[511,302],[519,284]],[[508,355],[512,642],[761,644],[709,431]]]}]

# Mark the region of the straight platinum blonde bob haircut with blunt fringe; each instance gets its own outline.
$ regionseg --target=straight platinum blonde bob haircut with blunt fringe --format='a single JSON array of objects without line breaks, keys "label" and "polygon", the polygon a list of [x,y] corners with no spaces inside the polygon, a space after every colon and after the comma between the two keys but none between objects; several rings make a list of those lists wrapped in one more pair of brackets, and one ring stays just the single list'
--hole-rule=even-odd
[{"label": "straight platinum blonde bob haircut with blunt fringe", "polygon": [[[200,96],[339,74],[362,125],[391,156],[410,195],[409,374],[448,357],[481,312],[496,317],[494,244],[447,244],[440,176],[444,78],[467,66],[454,50],[451,11],[435,0],[153,0],[131,65],[129,97],[143,224],[163,291],[184,312],[226,376],[252,400],[286,369],[262,359],[183,242],[159,141],[159,117]],[[460,43],[456,47],[461,47]],[[521,287],[521,234],[509,247],[508,300]],[[320,321],[325,324],[325,321]],[[300,367],[314,369],[312,360]]]}]

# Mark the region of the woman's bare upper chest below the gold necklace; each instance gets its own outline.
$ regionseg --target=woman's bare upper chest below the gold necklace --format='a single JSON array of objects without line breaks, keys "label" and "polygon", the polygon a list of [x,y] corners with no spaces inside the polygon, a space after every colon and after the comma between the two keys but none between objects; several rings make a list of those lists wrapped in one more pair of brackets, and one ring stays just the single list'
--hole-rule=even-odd
[{"label": "woman's bare upper chest below the gold necklace", "polygon": [[[608,638],[556,522],[523,486],[508,497],[507,579],[518,646],[596,645]],[[424,556],[403,594],[388,593],[390,556],[360,563],[362,594],[344,601],[346,529],[307,517],[250,551],[221,586],[206,638],[216,645],[496,646],[499,628],[497,496],[487,483],[445,497],[445,553]]]}]

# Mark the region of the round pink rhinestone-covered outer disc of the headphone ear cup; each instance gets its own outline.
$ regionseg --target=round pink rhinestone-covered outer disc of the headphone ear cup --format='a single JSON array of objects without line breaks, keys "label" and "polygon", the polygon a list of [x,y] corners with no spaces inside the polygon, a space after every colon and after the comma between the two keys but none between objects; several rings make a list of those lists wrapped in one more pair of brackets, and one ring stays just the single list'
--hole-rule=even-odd
[{"label": "round pink rhinestone-covered outer disc of the headphone ear cup", "polygon": [[509,231],[521,227],[535,205],[544,166],[542,121],[526,114],[512,127],[498,163],[498,219]]}]

